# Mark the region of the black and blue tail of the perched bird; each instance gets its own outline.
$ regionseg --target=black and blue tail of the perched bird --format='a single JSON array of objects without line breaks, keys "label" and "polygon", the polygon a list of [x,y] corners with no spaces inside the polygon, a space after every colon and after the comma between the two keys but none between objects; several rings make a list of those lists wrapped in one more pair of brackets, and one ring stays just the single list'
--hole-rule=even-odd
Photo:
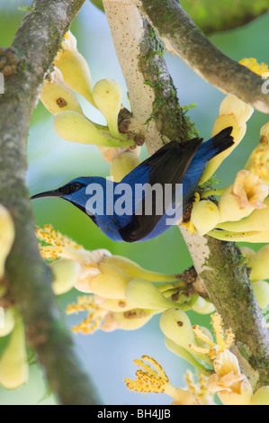
[{"label": "black and blue tail of the perched bird", "polygon": [[197,151],[195,158],[201,157],[202,161],[208,161],[212,157],[217,156],[222,151],[231,147],[234,144],[233,137],[230,135],[233,130],[232,126],[220,130],[220,132],[209,139],[206,142],[203,142],[199,150]]}]

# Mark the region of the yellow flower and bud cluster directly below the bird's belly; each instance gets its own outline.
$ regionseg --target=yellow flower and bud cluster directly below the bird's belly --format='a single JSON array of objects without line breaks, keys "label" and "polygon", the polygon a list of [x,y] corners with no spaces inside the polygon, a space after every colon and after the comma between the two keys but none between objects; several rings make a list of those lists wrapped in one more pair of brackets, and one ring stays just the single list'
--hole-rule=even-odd
[{"label": "yellow flower and bud cluster directly below the bird's belly", "polygon": [[67,307],[68,314],[88,312],[87,318],[73,328],[75,332],[138,329],[171,307],[212,311],[211,303],[188,293],[179,275],[148,271],[128,258],[112,256],[106,249],[87,251],[49,225],[37,228],[36,233],[40,254],[49,260],[54,275],[54,293],[67,293],[74,287],[91,294]]}]

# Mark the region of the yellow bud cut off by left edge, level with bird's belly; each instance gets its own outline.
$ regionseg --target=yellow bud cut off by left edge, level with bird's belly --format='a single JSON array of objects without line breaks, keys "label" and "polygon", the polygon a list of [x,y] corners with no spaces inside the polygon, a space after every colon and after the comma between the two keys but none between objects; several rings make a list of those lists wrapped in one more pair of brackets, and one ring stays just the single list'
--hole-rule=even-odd
[{"label": "yellow bud cut off by left edge, level with bird's belly", "polygon": [[4,276],[5,260],[13,246],[14,237],[15,229],[11,214],[0,204],[0,279]]}]

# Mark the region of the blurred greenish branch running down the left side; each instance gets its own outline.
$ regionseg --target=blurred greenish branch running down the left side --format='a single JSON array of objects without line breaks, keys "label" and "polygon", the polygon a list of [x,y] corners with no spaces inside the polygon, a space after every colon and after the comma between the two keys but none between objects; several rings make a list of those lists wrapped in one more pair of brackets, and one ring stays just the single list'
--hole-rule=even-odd
[{"label": "blurred greenish branch running down the left side", "polygon": [[94,404],[94,387],[77,356],[51,289],[51,273],[39,254],[25,187],[31,112],[61,40],[85,0],[36,0],[11,49],[1,49],[0,202],[11,211],[15,240],[6,263],[9,298],[21,312],[28,340],[61,404]]}]

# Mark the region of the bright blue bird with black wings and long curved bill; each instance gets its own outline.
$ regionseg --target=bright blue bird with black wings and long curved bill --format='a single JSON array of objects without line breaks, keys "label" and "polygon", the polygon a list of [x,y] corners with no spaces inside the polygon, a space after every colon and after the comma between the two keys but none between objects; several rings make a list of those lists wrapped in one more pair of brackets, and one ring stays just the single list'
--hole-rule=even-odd
[{"label": "bright blue bird with black wings and long curved bill", "polygon": [[[201,138],[181,144],[171,141],[120,183],[98,176],[78,177],[31,199],[59,197],[71,202],[114,241],[155,238],[182,218],[192,204],[207,162],[233,145],[231,131],[232,127],[221,130],[206,142]],[[151,207],[147,209],[148,204]]]}]

